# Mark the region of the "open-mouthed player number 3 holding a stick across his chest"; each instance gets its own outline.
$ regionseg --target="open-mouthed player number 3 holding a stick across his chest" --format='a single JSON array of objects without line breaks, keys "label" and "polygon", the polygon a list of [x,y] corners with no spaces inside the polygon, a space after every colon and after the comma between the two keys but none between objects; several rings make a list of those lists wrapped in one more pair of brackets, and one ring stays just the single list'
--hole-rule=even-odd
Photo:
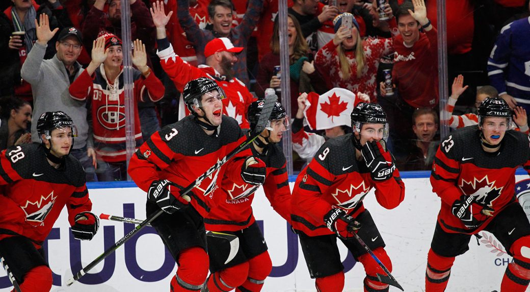
[{"label": "open-mouthed player number 3 holding a stick across his chest", "polygon": [[[179,268],[171,291],[199,291],[208,274],[205,217],[222,196],[214,195],[220,178],[260,185],[265,167],[250,162],[244,150],[193,188],[184,200],[179,190],[190,185],[217,161],[245,141],[235,119],[223,116],[224,92],[214,80],[199,78],[185,85],[184,101],[193,115],[155,132],[129,161],[129,174],[147,192],[147,217],[165,212],[151,222]],[[243,158],[243,159],[242,159]],[[178,185],[178,186],[175,186]],[[189,206],[191,205],[191,206]]]}]

